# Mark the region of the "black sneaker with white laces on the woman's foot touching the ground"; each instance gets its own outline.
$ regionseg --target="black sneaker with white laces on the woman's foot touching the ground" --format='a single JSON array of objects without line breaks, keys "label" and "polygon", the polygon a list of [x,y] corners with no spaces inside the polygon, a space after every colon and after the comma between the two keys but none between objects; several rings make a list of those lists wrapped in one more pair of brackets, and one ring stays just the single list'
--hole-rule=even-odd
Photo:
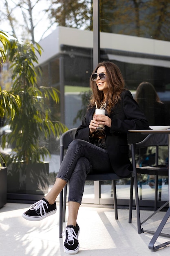
[{"label": "black sneaker with white laces on the woman's foot touching the ground", "polygon": [[79,251],[79,226],[76,224],[76,226],[68,225],[64,232],[62,233],[62,236],[66,234],[66,240],[64,242],[64,252],[67,254],[77,254]]}]

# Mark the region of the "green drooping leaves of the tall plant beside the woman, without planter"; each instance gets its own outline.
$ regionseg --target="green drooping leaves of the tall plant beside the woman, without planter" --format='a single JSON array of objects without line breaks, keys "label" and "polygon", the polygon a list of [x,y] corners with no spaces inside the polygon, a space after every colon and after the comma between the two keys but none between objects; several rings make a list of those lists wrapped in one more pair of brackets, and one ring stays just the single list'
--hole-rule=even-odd
[{"label": "green drooping leaves of the tall plant beside the woman, without planter", "polygon": [[[50,155],[42,140],[48,140],[53,134],[59,137],[67,128],[60,121],[51,120],[49,101],[59,102],[59,91],[52,87],[38,87],[37,79],[41,74],[37,53],[41,54],[42,48],[37,43],[20,44],[11,41],[9,60],[13,70],[12,92],[21,99],[21,108],[18,115],[9,121],[11,133],[8,143],[14,148],[8,159],[10,162],[24,162],[26,164],[40,162]],[[2,138],[2,147],[7,141],[7,135]]]}]

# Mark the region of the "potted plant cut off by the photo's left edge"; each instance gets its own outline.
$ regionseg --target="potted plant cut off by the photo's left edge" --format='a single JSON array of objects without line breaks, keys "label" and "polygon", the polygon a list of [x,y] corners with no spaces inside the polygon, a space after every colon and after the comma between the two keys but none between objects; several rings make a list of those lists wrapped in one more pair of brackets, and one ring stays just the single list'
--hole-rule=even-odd
[{"label": "potted plant cut off by the photo's left edge", "polygon": [[[10,48],[10,42],[5,33],[0,31],[0,65],[6,61],[7,47]],[[18,114],[20,108],[20,97],[7,90],[2,90],[0,86],[0,128],[4,124],[4,117],[13,119]],[[0,139],[1,139],[0,132]],[[3,155],[0,153],[0,208],[7,203],[7,167]]]}]

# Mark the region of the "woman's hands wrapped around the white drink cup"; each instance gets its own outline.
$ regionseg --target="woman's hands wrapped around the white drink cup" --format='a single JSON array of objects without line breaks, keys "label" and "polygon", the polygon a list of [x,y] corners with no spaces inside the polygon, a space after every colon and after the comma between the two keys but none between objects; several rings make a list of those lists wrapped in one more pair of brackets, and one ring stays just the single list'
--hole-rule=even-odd
[{"label": "woman's hands wrapped around the white drink cup", "polygon": [[90,132],[95,132],[95,129],[99,126],[99,124],[103,124],[104,126],[111,127],[112,120],[110,117],[105,115],[94,115],[93,119],[89,124]]}]

